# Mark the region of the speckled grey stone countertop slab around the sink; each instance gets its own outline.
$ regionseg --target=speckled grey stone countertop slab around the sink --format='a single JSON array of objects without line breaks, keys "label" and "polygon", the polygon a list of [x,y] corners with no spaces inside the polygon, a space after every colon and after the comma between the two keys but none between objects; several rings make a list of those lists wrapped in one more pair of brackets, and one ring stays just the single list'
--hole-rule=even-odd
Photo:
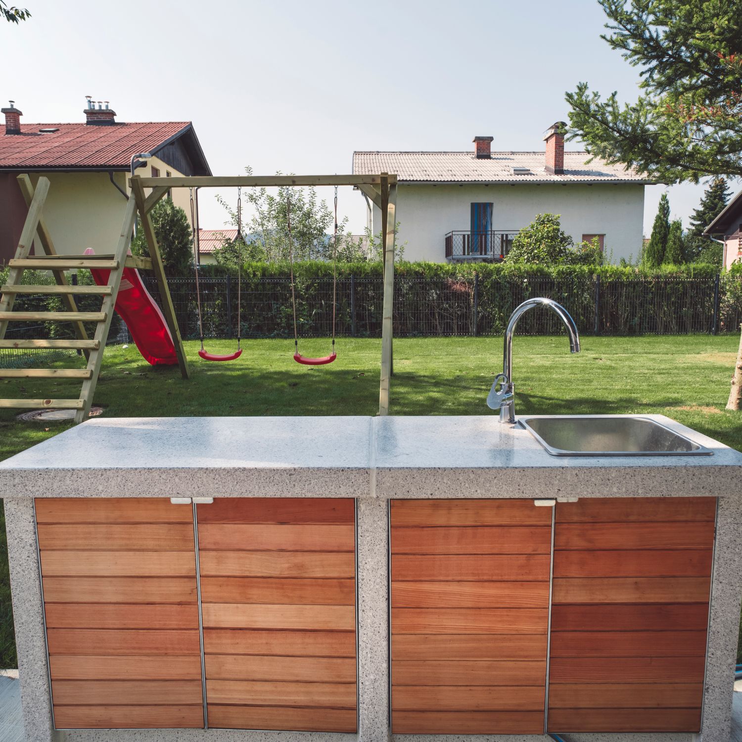
[{"label": "speckled grey stone countertop slab around the sink", "polygon": [[95,418],[0,462],[1,496],[742,496],[742,454],[550,456],[497,416]]}]

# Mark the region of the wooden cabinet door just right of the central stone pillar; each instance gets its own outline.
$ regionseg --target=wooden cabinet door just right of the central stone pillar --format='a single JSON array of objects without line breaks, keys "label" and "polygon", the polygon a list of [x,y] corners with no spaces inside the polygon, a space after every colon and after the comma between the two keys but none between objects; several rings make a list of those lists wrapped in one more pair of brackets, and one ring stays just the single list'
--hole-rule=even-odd
[{"label": "wooden cabinet door just right of the central stone pillar", "polygon": [[542,734],[552,508],[390,508],[392,731]]}]

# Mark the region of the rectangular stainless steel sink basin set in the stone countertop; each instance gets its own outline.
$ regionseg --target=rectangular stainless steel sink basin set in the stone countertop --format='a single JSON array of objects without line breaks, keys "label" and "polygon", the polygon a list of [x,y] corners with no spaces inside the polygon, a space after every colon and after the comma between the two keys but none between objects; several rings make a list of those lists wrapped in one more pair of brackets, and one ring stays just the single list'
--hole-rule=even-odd
[{"label": "rectangular stainless steel sink basin set in the stone countertop", "polygon": [[552,456],[712,456],[713,452],[650,418],[551,416],[519,418]]}]

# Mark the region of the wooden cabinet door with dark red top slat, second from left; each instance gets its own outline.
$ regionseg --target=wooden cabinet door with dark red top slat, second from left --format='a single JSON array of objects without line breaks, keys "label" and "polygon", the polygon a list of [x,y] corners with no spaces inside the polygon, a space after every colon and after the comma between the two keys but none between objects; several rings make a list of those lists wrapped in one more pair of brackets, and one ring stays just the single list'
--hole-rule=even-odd
[{"label": "wooden cabinet door with dark red top slat, second from left", "polygon": [[355,732],[355,501],[197,506],[209,727]]}]

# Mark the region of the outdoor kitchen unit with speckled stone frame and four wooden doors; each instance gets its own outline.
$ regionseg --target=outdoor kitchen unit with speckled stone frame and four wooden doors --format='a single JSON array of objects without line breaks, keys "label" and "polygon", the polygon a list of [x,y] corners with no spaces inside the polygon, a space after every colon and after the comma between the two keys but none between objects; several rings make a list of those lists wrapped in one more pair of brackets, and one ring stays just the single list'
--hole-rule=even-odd
[{"label": "outdoor kitchen unit with speckled stone frame and four wooden doors", "polygon": [[742,454],[644,417],[713,455],[555,457],[494,415],[96,418],[0,462],[26,738],[727,742]]}]

